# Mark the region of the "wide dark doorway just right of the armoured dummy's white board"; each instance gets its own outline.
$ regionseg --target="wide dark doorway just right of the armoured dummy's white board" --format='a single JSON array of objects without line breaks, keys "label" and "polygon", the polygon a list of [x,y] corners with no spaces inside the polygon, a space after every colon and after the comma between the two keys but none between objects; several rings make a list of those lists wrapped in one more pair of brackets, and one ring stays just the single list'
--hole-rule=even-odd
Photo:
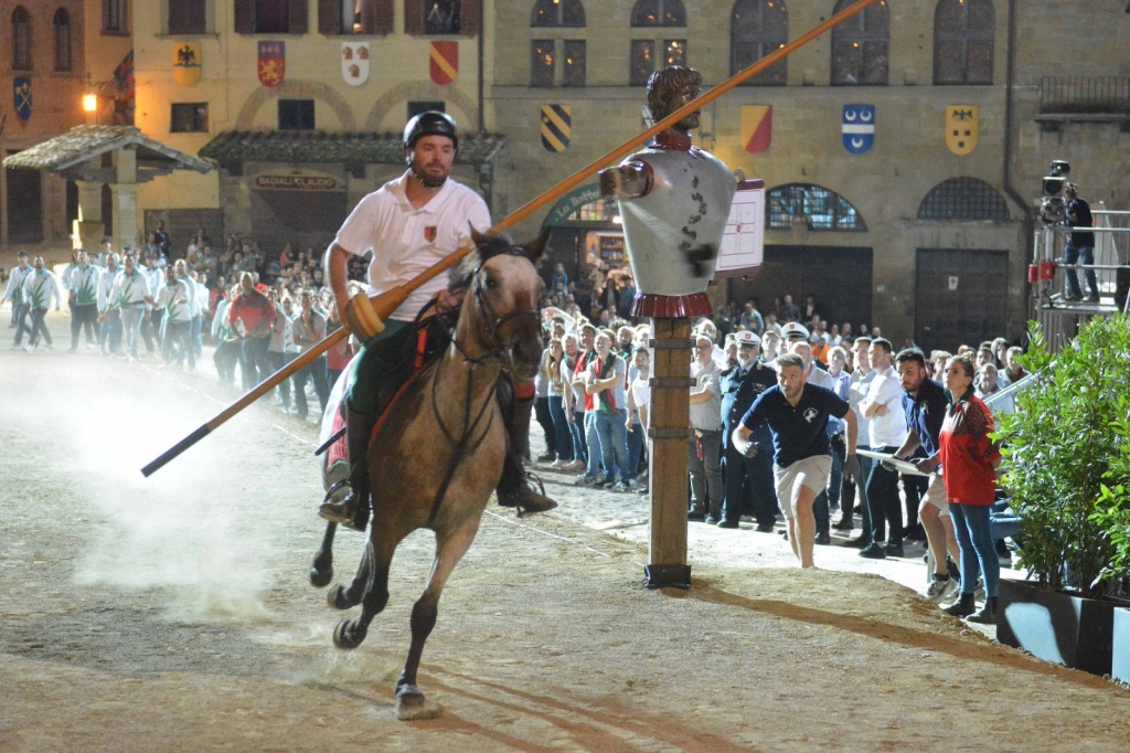
[{"label": "wide dark doorway just right of the armoured dummy's white board", "polygon": [[760,271],[751,279],[729,280],[729,298],[741,306],[756,297],[766,314],[773,300],[785,293],[802,309],[805,296],[811,293],[828,324],[846,321],[858,330],[861,323],[875,323],[871,256],[871,249],[859,246],[767,245]]}]

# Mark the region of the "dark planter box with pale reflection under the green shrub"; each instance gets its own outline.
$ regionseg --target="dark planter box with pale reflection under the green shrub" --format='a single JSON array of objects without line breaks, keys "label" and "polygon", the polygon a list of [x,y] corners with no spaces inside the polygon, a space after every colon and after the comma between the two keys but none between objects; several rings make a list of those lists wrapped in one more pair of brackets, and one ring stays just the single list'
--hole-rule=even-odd
[{"label": "dark planter box with pale reflection under the green shrub", "polygon": [[998,641],[1066,667],[1111,673],[1114,609],[1125,603],[1085,599],[1006,579],[999,596]]}]

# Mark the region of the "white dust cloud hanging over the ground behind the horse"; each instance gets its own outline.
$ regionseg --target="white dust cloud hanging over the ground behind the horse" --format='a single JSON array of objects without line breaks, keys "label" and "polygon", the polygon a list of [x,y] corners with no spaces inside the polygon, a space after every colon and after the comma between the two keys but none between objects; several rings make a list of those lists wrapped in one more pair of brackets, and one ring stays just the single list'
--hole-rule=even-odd
[{"label": "white dust cloud hanging over the ground behind the horse", "polygon": [[[14,406],[16,421],[50,427],[50,451],[67,455],[69,482],[88,494],[75,520],[88,528],[76,553],[76,583],[163,589],[171,620],[267,618],[267,534],[245,525],[254,520],[261,490],[250,478],[225,487],[210,473],[240,462],[253,467],[254,440],[246,431],[254,422],[237,416],[145,478],[144,465],[211,416],[169,399],[192,389],[186,382],[168,384],[155,369],[129,376],[55,392],[47,406]],[[156,380],[164,383],[150,389]]]}]

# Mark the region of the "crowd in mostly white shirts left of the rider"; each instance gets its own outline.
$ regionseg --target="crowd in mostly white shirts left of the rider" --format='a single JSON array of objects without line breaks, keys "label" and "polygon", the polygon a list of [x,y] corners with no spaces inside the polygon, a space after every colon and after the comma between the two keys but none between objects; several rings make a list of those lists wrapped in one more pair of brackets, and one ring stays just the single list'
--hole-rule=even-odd
[{"label": "crowd in mostly white shirts left of the rider", "polygon": [[[3,279],[3,300],[12,304],[14,348],[31,350],[41,343],[53,348],[43,315],[36,313],[46,313],[52,287],[56,304],[66,298],[70,310],[69,353],[85,340],[88,350],[110,358],[147,358],[163,369],[193,370],[207,344],[220,383],[243,390],[341,326],[324,284],[321,253],[313,248],[295,252],[288,244],[272,256],[258,242],[232,235],[217,250],[203,230],[174,244],[158,223],[141,248],[119,252],[103,239],[96,252],[75,251],[58,277],[47,269],[38,272],[45,282],[36,284],[34,295],[28,283],[42,258],[28,263],[20,253],[18,259]],[[364,279],[366,265],[367,259],[354,261],[349,278]],[[45,295],[47,303],[42,303]],[[341,340],[281,382],[276,405],[303,419],[310,415],[308,398],[324,409],[351,357],[348,340]]]}]

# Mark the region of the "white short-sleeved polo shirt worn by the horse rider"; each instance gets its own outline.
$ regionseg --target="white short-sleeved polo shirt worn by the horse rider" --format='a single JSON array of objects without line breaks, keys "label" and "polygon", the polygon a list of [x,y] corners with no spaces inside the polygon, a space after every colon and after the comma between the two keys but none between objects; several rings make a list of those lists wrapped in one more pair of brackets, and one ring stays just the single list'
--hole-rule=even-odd
[{"label": "white short-sleeved polo shirt worn by the horse rider", "polygon": [[[349,253],[373,251],[370,294],[384,293],[412,279],[470,242],[471,226],[490,227],[490,213],[478,193],[450,178],[426,205],[416,209],[405,194],[408,172],[362,199],[338,231],[334,242]],[[447,286],[441,272],[414,291],[391,319],[411,321]]]}]

